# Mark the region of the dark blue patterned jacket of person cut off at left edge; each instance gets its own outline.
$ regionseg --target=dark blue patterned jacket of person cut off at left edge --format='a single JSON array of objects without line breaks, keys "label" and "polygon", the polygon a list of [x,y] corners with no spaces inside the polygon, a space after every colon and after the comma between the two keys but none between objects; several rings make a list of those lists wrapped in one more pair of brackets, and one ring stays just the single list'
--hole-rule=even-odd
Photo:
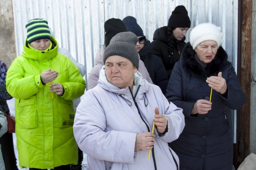
[{"label": "dark blue patterned jacket of person cut off at left edge", "polygon": [[7,70],[8,67],[0,60],[0,111],[9,115],[10,110],[6,100],[12,99],[12,96],[6,91],[5,78]]}]

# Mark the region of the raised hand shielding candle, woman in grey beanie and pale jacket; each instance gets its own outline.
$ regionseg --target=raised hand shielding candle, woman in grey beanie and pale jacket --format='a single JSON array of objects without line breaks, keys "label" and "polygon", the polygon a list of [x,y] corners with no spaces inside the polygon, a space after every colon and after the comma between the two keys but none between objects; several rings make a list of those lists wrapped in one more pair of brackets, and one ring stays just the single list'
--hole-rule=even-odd
[{"label": "raised hand shielding candle, woman in grey beanie and pale jacket", "polygon": [[159,114],[159,109],[155,108],[155,125],[159,133],[164,133],[167,129],[167,119],[164,115]]}]

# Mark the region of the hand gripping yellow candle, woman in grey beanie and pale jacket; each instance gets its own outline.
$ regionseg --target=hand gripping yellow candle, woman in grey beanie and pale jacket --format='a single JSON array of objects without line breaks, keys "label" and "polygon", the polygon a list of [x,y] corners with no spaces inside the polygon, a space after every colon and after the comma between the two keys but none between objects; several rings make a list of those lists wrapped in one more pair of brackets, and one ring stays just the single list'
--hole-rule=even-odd
[{"label": "hand gripping yellow candle, woman in grey beanie and pale jacket", "polygon": [[153,148],[155,143],[155,134],[151,132],[140,133],[136,136],[135,151],[148,151]]}]

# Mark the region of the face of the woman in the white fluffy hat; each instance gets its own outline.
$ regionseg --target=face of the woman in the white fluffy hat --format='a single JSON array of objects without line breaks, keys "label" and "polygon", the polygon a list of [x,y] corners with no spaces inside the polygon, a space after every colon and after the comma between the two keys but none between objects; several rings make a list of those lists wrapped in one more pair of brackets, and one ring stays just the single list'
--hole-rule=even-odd
[{"label": "face of the woman in the white fluffy hat", "polygon": [[207,40],[200,43],[195,51],[198,55],[201,62],[208,64],[210,63],[214,58],[218,50],[218,45],[216,41]]}]

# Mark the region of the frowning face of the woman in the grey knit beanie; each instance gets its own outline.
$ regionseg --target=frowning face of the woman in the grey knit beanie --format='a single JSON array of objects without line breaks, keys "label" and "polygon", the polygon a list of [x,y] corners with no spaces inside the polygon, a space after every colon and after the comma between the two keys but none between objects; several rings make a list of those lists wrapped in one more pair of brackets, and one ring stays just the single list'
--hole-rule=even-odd
[{"label": "frowning face of the woman in the grey knit beanie", "polygon": [[120,89],[133,86],[137,69],[130,60],[118,55],[110,56],[105,62],[106,77],[111,84]]}]

